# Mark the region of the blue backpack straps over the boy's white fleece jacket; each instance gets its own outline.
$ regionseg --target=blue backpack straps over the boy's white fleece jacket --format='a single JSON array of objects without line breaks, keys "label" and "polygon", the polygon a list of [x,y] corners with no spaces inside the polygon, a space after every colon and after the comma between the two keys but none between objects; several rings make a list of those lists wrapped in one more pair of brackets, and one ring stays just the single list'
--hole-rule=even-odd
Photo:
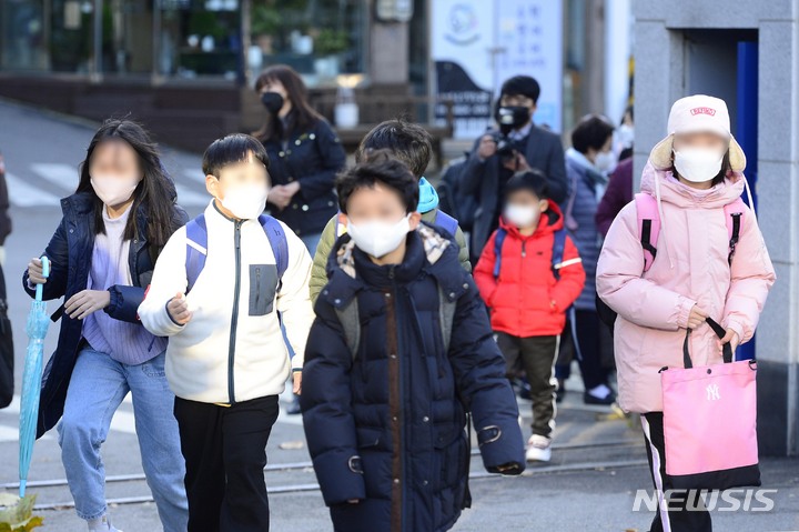
[{"label": "blue backpack straps over the boy's white fleece jacket", "polygon": [[[272,217],[261,214],[259,223],[266,233],[272,252],[275,255],[277,265],[277,287],[280,289],[283,274],[289,268],[289,241],[286,240],[283,225]],[[205,268],[205,259],[208,257],[208,225],[205,224],[205,214],[200,214],[194,220],[186,223],[186,280],[189,284],[186,292],[194,287],[200,273]]]}]

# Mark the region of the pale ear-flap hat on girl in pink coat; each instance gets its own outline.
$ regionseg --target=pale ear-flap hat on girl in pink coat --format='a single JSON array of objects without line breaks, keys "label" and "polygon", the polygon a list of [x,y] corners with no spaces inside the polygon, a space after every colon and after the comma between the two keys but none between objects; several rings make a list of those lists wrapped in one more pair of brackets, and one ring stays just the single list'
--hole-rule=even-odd
[{"label": "pale ear-flap hat on girl in pink coat", "polygon": [[730,132],[727,103],[711,96],[696,94],[680,98],[669,112],[668,137],[658,142],[649,153],[649,160],[657,169],[671,168],[674,137],[682,133],[716,133],[729,139],[729,160],[732,171],[742,172],[746,155]]}]

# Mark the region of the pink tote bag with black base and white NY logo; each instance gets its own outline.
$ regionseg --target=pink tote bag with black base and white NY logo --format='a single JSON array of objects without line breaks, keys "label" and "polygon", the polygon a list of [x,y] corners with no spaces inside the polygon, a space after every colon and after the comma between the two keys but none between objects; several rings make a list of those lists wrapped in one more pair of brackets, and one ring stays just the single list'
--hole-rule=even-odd
[{"label": "pink tote bag with black base and white NY logo", "polygon": [[[710,318],[719,338],[726,331]],[[726,490],[760,485],[757,448],[757,362],[732,361],[695,368],[682,344],[685,368],[663,368],[666,473],[679,489]]]}]

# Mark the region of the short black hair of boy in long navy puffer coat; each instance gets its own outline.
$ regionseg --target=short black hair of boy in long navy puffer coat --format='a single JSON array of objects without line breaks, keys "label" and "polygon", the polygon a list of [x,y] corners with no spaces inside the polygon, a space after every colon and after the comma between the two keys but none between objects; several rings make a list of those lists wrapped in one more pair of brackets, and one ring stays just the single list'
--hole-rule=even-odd
[{"label": "short black hair of boy in long navy puffer coat", "polygon": [[388,150],[370,151],[364,159],[336,178],[338,209],[346,214],[347,201],[357,190],[372,189],[376,183],[396,191],[405,204],[405,212],[414,212],[418,205],[418,180],[411,170]]}]

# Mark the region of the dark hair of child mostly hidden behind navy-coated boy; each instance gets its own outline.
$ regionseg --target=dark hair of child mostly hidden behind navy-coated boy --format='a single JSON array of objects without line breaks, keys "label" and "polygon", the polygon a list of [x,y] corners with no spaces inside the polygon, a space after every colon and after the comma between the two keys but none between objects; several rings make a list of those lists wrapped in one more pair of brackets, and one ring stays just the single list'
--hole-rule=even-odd
[{"label": "dark hair of child mostly hidden behind navy-coated boy", "polygon": [[370,150],[391,150],[416,178],[421,178],[433,153],[433,137],[422,126],[402,118],[386,120],[366,133],[355,152],[361,162]]}]

